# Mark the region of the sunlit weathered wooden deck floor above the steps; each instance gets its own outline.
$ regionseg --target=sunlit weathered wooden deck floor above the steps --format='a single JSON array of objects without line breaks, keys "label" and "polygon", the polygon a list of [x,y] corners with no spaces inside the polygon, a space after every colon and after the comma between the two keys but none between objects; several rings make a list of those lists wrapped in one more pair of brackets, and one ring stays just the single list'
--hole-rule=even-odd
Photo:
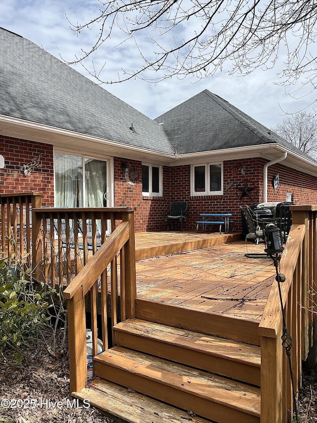
[{"label": "sunlit weathered wooden deck floor above the steps", "polygon": [[[231,234],[229,241],[231,237],[237,239]],[[188,239],[212,246],[138,261],[137,297],[260,320],[275,268],[269,259],[245,257],[244,241],[221,244],[223,235],[216,233],[136,233],[136,251],[141,257],[149,243],[153,250],[165,246],[169,251],[169,243],[183,240],[186,245]],[[248,243],[249,252],[263,249],[264,244]]]}]

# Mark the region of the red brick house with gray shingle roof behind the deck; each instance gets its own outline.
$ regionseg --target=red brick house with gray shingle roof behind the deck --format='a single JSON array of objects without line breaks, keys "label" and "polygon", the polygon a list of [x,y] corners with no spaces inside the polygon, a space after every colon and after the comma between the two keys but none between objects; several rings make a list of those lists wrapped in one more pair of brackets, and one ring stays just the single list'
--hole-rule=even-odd
[{"label": "red brick house with gray shingle roof behind the deck", "polygon": [[[317,162],[205,90],[152,120],[0,28],[0,193],[43,191],[44,206],[136,207],[163,228],[172,201],[200,212],[317,203]],[[29,170],[29,172],[28,172]]]}]

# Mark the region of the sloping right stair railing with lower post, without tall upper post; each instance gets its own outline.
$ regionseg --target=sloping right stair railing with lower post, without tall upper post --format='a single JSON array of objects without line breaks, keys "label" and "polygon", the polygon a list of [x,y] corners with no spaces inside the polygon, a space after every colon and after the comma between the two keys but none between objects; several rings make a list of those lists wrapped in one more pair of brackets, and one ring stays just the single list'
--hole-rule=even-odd
[{"label": "sloping right stair railing with lower post, without tall upper post", "polygon": [[[291,421],[293,410],[293,394],[296,396],[301,381],[301,355],[303,345],[302,305],[305,302],[308,283],[306,268],[309,260],[305,258],[304,249],[307,240],[307,226],[297,221],[291,227],[285,250],[282,254],[279,273],[284,274],[285,281],[279,287],[276,280],[265,305],[259,324],[261,336],[261,423],[280,423]],[[282,318],[281,302],[285,316],[285,327]],[[287,339],[293,339],[291,349],[291,367],[294,381],[294,393],[291,387],[286,348]],[[305,347],[304,347],[305,348]]]}]

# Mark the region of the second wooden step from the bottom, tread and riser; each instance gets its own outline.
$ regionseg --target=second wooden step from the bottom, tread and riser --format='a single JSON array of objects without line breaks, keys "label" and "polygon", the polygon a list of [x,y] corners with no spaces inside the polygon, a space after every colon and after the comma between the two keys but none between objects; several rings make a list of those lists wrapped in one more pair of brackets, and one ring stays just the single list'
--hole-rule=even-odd
[{"label": "second wooden step from the bottom, tread and riser", "polygon": [[218,423],[260,423],[260,389],[122,347],[96,356],[96,375]]}]

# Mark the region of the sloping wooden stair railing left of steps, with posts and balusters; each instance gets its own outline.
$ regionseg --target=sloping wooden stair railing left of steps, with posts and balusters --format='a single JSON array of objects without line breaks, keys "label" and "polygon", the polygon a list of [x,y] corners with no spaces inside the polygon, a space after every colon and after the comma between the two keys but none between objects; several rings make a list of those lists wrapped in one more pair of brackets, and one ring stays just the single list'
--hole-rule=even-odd
[{"label": "sloping wooden stair railing left of steps, with posts and balusters", "polygon": [[[133,211],[113,209],[113,218],[122,220],[85,267],[64,290],[68,301],[70,390],[80,391],[87,379],[85,300],[90,300],[93,355],[98,351],[97,304],[101,295],[103,350],[108,348],[107,299],[111,301],[111,328],[135,316],[136,273]],[[110,275],[108,276],[108,265]],[[108,283],[109,281],[109,283]],[[119,295],[120,293],[120,295]],[[87,297],[87,298],[86,298]],[[120,316],[117,304],[120,304]],[[113,333],[112,333],[113,337]]]}]

